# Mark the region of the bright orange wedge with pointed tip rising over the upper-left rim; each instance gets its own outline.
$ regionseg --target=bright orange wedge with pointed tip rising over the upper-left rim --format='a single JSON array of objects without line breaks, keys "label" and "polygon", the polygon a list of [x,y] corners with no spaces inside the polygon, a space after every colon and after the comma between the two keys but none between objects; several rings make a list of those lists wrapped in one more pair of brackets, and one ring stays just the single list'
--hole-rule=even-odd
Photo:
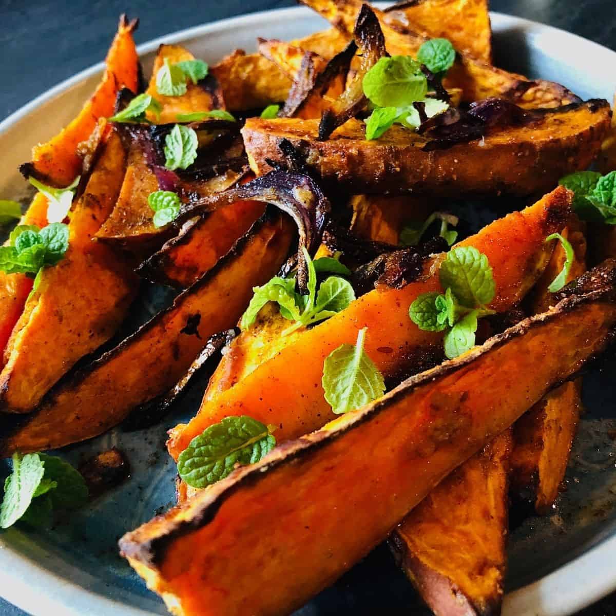
[{"label": "bright orange wedge with pointed tip rising over the upper-left rim", "polygon": [[81,173],[77,146],[91,135],[99,118],[113,115],[116,95],[122,87],[137,92],[139,57],[132,39],[137,20],[120,18],[118,33],[107,54],[102,81],[79,115],[46,144],[34,146],[32,161],[23,171],[55,186],[68,186]]}]

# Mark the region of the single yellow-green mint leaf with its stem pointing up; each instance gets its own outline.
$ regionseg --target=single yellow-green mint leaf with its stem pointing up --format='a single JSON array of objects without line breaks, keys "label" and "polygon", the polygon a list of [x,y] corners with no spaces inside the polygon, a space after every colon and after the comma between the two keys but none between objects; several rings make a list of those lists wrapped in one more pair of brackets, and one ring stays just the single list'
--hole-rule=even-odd
[{"label": "single yellow-green mint leaf with its stem pointing up", "polygon": [[325,400],[336,415],[362,408],[385,392],[383,375],[363,351],[366,330],[359,330],[355,346],[342,344],[323,363]]}]

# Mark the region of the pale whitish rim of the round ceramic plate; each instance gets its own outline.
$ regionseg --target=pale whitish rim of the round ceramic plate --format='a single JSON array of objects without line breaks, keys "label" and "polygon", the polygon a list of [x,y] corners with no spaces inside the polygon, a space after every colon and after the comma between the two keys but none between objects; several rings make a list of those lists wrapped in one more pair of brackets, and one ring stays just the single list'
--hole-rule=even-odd
[{"label": "pale whitish rim of the round ceramic plate", "polygon": [[[385,7],[388,2],[375,2]],[[314,17],[307,7],[288,7],[262,10],[246,15],[228,17],[214,22],[191,26],[164,34],[137,46],[141,57],[154,51],[161,43],[181,43],[190,38],[202,37],[211,32],[230,28],[242,28],[265,19],[288,20],[290,18]],[[583,36],[535,22],[523,17],[490,11],[496,30],[516,26],[525,34],[549,33],[564,36],[570,41],[583,44],[604,54],[609,52],[616,59],[616,52]],[[323,20],[324,23],[325,20]],[[36,108],[50,102],[78,83],[97,73],[102,73],[104,62],[98,62],[76,73],[56,86],[15,110],[0,122],[0,137]],[[587,607],[616,590],[616,570],[613,569],[613,554],[616,553],[616,533],[599,540],[553,572],[528,585],[505,595],[503,616],[569,616]],[[63,613],[67,616],[146,616],[149,610],[113,601],[101,594],[77,585],[65,577],[55,575],[35,559],[10,549],[0,535],[0,596],[33,616]],[[612,565],[612,566],[610,566]],[[579,590],[582,589],[582,590]],[[54,611],[55,610],[55,611]]]}]

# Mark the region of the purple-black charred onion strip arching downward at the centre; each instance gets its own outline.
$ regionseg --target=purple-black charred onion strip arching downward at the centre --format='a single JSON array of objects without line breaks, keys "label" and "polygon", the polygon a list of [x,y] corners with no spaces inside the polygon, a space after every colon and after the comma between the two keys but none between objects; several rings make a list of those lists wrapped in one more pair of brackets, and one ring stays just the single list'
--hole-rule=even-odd
[{"label": "purple-black charred onion strip arching downward at the centre", "polygon": [[183,205],[177,221],[214,211],[235,201],[247,200],[274,205],[289,214],[298,225],[300,248],[298,285],[300,290],[306,290],[308,274],[301,248],[304,246],[309,253],[314,253],[331,209],[330,202],[311,177],[280,169],[270,171],[267,175],[257,177],[247,184]]}]

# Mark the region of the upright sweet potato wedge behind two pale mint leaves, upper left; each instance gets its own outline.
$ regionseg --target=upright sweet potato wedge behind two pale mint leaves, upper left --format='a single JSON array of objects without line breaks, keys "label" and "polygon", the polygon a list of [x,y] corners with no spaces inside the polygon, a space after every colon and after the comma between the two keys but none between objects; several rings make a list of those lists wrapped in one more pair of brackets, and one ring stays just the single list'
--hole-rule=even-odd
[{"label": "upright sweet potato wedge behind two pale mint leaves, upper left", "polygon": [[191,79],[187,81],[186,94],[182,96],[165,96],[156,89],[156,74],[165,60],[170,64],[194,60],[195,56],[179,45],[161,45],[154,60],[152,78],[148,84],[147,94],[151,94],[162,105],[160,116],[148,114],[148,120],[158,124],[177,122],[177,114],[193,113],[195,111],[211,111],[224,109],[225,102],[221,87],[214,75],[208,74],[197,84]]}]

